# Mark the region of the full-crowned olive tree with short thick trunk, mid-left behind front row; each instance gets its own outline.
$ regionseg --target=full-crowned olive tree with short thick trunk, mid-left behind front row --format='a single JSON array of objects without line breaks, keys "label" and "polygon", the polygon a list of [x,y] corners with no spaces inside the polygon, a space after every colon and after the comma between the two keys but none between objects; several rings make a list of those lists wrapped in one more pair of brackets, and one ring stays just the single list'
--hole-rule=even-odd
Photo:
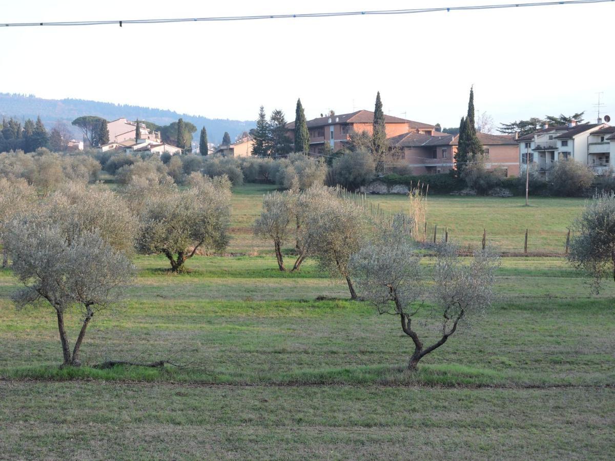
[{"label": "full-crowned olive tree with short thick trunk, mid-left behind front row", "polygon": [[[221,251],[229,241],[231,182],[223,177],[189,177],[192,187],[143,197],[137,250],[164,254],[172,272],[186,272],[185,262],[199,250]],[[147,189],[144,189],[147,193]]]}]

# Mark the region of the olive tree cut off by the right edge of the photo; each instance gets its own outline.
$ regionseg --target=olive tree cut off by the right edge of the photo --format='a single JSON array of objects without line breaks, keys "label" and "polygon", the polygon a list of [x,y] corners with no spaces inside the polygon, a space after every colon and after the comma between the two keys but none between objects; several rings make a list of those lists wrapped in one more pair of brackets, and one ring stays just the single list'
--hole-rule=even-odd
[{"label": "olive tree cut off by the right edge of the photo", "polygon": [[574,221],[568,260],[594,279],[600,290],[601,279],[612,274],[615,282],[615,194],[595,195]]}]

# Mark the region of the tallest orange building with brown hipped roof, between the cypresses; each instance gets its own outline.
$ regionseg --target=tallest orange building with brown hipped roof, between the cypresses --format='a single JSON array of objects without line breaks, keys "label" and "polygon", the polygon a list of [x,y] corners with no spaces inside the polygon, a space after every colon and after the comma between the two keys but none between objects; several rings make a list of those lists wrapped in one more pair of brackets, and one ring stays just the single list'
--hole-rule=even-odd
[{"label": "tallest orange building with brown hipped roof, between the cypresses", "polygon": [[[329,144],[332,151],[339,151],[348,142],[350,133],[366,131],[371,135],[373,122],[374,112],[365,110],[308,120],[306,124],[309,130],[309,151],[312,154],[319,154],[325,143]],[[435,125],[399,117],[384,116],[384,123],[387,138],[410,132],[424,135],[432,135],[435,132]],[[290,122],[286,127],[288,136],[294,142],[295,122]]]}]

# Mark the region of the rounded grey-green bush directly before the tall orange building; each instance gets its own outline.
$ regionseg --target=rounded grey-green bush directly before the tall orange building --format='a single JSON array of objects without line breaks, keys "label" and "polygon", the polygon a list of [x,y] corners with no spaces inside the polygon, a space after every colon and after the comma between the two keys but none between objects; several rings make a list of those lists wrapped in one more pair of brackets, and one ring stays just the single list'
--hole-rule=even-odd
[{"label": "rounded grey-green bush directly before the tall orange building", "polygon": [[374,162],[370,152],[348,152],[333,160],[327,175],[327,185],[345,187],[349,191],[369,184],[375,176]]}]

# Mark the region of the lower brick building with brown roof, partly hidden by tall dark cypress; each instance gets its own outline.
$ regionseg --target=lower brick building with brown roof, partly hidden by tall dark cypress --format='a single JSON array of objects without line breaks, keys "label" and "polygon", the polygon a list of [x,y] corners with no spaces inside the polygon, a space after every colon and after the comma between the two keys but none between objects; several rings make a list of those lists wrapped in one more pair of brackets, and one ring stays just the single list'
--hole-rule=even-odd
[{"label": "lower brick building with brown roof, partly hidden by tall dark cypress", "polygon": [[[476,133],[485,150],[486,168],[501,168],[506,176],[519,175],[517,140],[507,135]],[[459,135],[434,132],[431,136],[406,133],[389,138],[391,148],[400,151],[401,160],[412,168],[413,174],[446,173],[454,168]]]}]

